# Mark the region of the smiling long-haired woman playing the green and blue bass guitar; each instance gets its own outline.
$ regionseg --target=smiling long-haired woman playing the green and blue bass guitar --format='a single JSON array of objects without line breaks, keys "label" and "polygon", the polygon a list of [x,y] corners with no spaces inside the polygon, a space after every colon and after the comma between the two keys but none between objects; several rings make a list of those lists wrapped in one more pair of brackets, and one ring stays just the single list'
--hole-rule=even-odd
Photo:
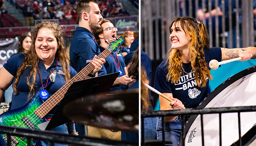
[{"label": "smiling long-haired woman playing the green and blue bass guitar", "polygon": [[[66,56],[63,35],[58,24],[42,22],[33,29],[32,43],[28,53],[14,55],[4,63],[0,70],[0,101],[4,90],[12,84],[14,92],[11,110],[25,106],[37,90],[41,91],[40,97],[42,95],[41,98],[46,100],[49,95],[54,94],[76,75],[77,72],[70,67]],[[98,72],[104,61],[95,59],[92,63],[95,69],[91,73]],[[47,86],[49,84],[51,86]],[[58,104],[46,114],[47,120],[52,118]],[[66,124],[51,131],[68,134]],[[48,141],[40,141],[40,145],[48,146],[48,144]]]}]

